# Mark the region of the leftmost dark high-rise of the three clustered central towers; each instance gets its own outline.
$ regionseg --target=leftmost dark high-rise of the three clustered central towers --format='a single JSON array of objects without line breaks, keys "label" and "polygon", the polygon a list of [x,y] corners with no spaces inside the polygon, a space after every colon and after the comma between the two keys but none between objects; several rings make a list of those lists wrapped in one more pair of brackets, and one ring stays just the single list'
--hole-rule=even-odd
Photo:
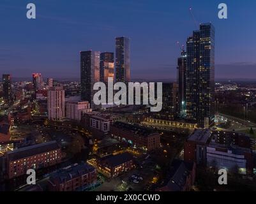
[{"label": "leftmost dark high-rise of the three clustered central towers", "polygon": [[81,77],[81,99],[89,101],[91,107],[96,109],[93,103],[93,85],[100,81],[100,52],[80,52],[80,77]]}]

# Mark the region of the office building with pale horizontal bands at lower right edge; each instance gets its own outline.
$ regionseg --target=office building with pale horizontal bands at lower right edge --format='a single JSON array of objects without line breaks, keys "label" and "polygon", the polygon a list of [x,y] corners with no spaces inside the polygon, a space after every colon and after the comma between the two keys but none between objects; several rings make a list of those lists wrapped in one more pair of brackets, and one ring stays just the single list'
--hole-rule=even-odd
[{"label": "office building with pale horizontal bands at lower right edge", "polygon": [[213,131],[207,146],[207,167],[252,174],[253,142],[245,133]]}]

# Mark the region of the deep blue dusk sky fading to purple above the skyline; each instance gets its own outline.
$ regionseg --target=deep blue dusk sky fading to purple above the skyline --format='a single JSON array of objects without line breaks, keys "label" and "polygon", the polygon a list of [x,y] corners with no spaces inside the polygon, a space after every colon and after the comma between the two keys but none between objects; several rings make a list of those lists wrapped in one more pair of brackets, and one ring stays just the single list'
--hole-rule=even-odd
[{"label": "deep blue dusk sky fading to purple above the skyline", "polygon": [[79,51],[114,52],[115,38],[128,36],[132,80],[173,80],[180,55],[176,41],[185,45],[204,22],[212,22],[216,29],[216,80],[252,79],[256,74],[256,30],[248,20],[255,15],[252,5],[226,1],[228,18],[219,19],[216,1],[34,3],[36,19],[27,20],[24,3],[1,1],[1,74],[79,78]]}]

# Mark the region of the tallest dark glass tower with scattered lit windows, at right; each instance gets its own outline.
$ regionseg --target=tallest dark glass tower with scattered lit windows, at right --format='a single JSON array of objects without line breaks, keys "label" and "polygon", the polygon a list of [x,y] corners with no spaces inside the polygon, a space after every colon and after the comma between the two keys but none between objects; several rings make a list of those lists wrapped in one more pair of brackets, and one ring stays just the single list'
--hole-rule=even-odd
[{"label": "tallest dark glass tower with scattered lit windows, at right", "polygon": [[215,28],[200,24],[186,43],[186,117],[200,128],[214,124]]}]

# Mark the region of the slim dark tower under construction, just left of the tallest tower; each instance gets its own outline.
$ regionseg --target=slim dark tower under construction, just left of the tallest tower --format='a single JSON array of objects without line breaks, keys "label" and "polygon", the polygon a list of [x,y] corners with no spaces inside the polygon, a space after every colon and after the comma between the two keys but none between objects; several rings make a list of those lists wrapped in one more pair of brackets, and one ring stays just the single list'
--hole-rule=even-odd
[{"label": "slim dark tower under construction, just left of the tallest tower", "polygon": [[178,110],[181,117],[186,115],[186,52],[181,51],[177,60]]}]

